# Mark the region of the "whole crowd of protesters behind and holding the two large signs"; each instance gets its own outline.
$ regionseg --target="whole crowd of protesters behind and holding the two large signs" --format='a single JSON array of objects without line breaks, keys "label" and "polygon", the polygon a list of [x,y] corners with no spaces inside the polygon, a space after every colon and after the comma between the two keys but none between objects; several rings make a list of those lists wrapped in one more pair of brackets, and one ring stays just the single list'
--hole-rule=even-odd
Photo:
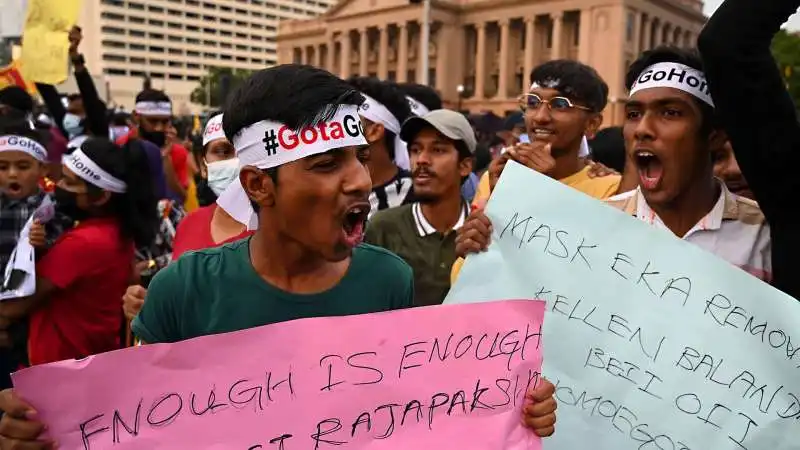
[{"label": "whole crowd of protesters behind and holding the two large signs", "polygon": [[[787,173],[800,123],[769,51],[798,7],[726,0],[699,51],[630,65],[624,125],[602,130],[608,86],[577,61],[534,68],[520,113],[492,130],[427,86],[282,65],[182,139],[164,92],[107,111],[74,29],[79,94],[37,85],[36,117],[23,89],[0,90],[3,266],[34,211],[56,204],[31,227],[35,292],[0,302],[0,448],[54,445],[10,388],[27,365],[441,304],[463,258],[491,245],[483,207],[511,160],[800,298]],[[527,394],[540,436],[555,431],[553,389]]]}]

